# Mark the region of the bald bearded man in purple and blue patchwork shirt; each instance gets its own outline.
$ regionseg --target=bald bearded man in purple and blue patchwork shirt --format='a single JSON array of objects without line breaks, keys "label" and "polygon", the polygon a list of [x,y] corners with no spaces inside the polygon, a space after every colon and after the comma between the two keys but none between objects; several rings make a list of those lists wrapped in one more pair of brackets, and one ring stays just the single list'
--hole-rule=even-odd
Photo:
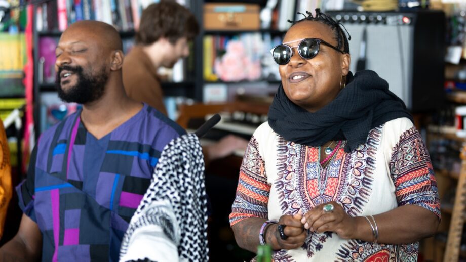
[{"label": "bald bearded man in purple and blue patchwork shirt", "polygon": [[56,56],[59,97],[83,108],[41,135],[17,187],[21,225],[0,260],[118,261],[161,151],[184,130],[126,96],[112,26],[72,24]]}]

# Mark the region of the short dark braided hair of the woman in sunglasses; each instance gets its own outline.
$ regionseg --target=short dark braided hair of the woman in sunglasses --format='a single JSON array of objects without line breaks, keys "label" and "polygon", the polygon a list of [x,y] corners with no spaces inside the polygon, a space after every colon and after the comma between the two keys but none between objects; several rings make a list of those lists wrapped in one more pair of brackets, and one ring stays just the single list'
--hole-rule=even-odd
[{"label": "short dark braided hair of the woman in sunglasses", "polygon": [[344,53],[350,54],[350,45],[348,44],[348,40],[351,40],[351,35],[350,33],[348,33],[349,37],[346,38],[346,34],[341,29],[341,26],[343,26],[346,32],[348,31],[346,30],[343,24],[341,24],[340,22],[336,22],[329,15],[322,13],[319,8],[316,9],[316,16],[313,16],[313,14],[310,13],[309,11],[306,11],[307,16],[302,13],[298,13],[298,14],[303,15],[304,18],[298,21],[288,20],[288,22],[293,23],[293,25],[295,25],[302,21],[316,21],[316,22],[328,25],[334,32],[335,39],[338,41],[337,48],[339,50],[342,50]]}]

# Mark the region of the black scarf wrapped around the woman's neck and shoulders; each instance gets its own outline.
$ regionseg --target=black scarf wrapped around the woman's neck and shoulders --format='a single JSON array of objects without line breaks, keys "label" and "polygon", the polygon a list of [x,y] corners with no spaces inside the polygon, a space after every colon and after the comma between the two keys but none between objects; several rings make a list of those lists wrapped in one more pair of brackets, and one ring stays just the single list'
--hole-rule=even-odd
[{"label": "black scarf wrapped around the woman's neck and shoulders", "polygon": [[347,140],[345,151],[366,143],[369,131],[387,121],[407,117],[405,103],[389,84],[370,70],[350,72],[345,88],[329,104],[311,113],[291,102],[280,84],[268,112],[270,127],[288,141],[322,146],[330,140]]}]

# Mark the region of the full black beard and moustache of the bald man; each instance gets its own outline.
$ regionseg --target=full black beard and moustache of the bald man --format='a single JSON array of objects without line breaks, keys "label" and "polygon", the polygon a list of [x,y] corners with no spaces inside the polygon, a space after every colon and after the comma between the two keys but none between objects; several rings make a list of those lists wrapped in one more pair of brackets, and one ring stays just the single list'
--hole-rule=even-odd
[{"label": "full black beard and moustache of the bald man", "polygon": [[[70,86],[66,91],[62,89],[60,84],[60,73],[63,70],[70,71],[77,76],[77,83],[74,86]],[[108,74],[105,72],[105,67],[102,67],[100,72],[97,72],[95,75],[88,75],[83,73],[83,68],[81,66],[72,67],[64,65],[58,68],[55,83],[58,97],[64,102],[87,104],[103,96],[107,80]]]}]

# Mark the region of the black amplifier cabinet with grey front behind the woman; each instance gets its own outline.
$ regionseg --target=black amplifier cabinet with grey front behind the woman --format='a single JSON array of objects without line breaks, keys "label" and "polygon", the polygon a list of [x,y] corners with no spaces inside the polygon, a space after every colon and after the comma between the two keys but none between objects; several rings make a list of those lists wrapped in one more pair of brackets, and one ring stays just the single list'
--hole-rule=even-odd
[{"label": "black amplifier cabinet with grey front behind the woman", "polygon": [[[351,35],[353,73],[361,68],[377,72],[411,112],[433,111],[442,106],[446,50],[443,12],[327,14],[341,22]],[[365,63],[357,66],[364,55]]]}]

